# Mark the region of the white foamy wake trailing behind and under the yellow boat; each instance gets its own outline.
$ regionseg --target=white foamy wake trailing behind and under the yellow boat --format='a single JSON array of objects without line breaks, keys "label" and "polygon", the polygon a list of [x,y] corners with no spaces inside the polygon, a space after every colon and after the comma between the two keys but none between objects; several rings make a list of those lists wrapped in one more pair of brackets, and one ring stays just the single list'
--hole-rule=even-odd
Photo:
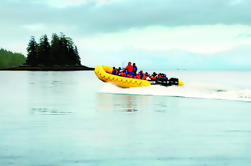
[{"label": "white foamy wake trailing behind and under the yellow boat", "polygon": [[106,83],[101,93],[110,94],[130,94],[130,95],[156,95],[156,96],[175,96],[189,98],[204,99],[222,99],[222,100],[238,100],[251,102],[250,89],[235,89],[232,87],[222,87],[210,84],[186,84],[183,87],[177,86],[158,86],[152,85],[148,87],[138,88],[120,88],[115,85]]}]

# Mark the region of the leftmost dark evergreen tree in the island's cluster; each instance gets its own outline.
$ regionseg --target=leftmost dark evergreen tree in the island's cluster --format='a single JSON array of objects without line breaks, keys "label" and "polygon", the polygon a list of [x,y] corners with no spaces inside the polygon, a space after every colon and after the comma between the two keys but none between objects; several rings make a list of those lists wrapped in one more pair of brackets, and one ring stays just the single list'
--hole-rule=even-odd
[{"label": "leftmost dark evergreen tree in the island's cluster", "polygon": [[38,65],[38,54],[37,54],[37,47],[38,44],[34,38],[34,36],[31,37],[30,42],[27,47],[27,59],[26,64],[31,66]]}]

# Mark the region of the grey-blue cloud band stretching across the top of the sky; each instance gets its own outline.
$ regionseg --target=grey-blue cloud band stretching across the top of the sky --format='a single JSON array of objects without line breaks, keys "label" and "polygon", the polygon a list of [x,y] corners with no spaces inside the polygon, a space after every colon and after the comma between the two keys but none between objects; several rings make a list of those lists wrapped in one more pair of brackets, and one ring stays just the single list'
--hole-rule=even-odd
[{"label": "grey-blue cloud band stretching across the top of the sky", "polygon": [[[251,24],[251,2],[248,0],[189,2],[187,0],[38,0],[35,2],[5,0],[0,7],[0,19],[5,24],[17,25],[76,25],[80,34],[156,25]],[[106,5],[99,5],[101,3]],[[57,4],[66,5],[64,8],[57,8]]]}]

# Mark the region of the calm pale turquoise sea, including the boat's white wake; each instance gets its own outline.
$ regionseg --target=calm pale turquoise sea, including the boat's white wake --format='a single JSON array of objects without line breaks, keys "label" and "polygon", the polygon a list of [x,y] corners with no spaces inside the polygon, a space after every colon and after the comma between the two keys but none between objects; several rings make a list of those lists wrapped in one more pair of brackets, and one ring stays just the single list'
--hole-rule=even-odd
[{"label": "calm pale turquoise sea, including the boat's white wake", "polygon": [[1,71],[0,165],[250,165],[251,71],[168,75],[185,86]]}]

